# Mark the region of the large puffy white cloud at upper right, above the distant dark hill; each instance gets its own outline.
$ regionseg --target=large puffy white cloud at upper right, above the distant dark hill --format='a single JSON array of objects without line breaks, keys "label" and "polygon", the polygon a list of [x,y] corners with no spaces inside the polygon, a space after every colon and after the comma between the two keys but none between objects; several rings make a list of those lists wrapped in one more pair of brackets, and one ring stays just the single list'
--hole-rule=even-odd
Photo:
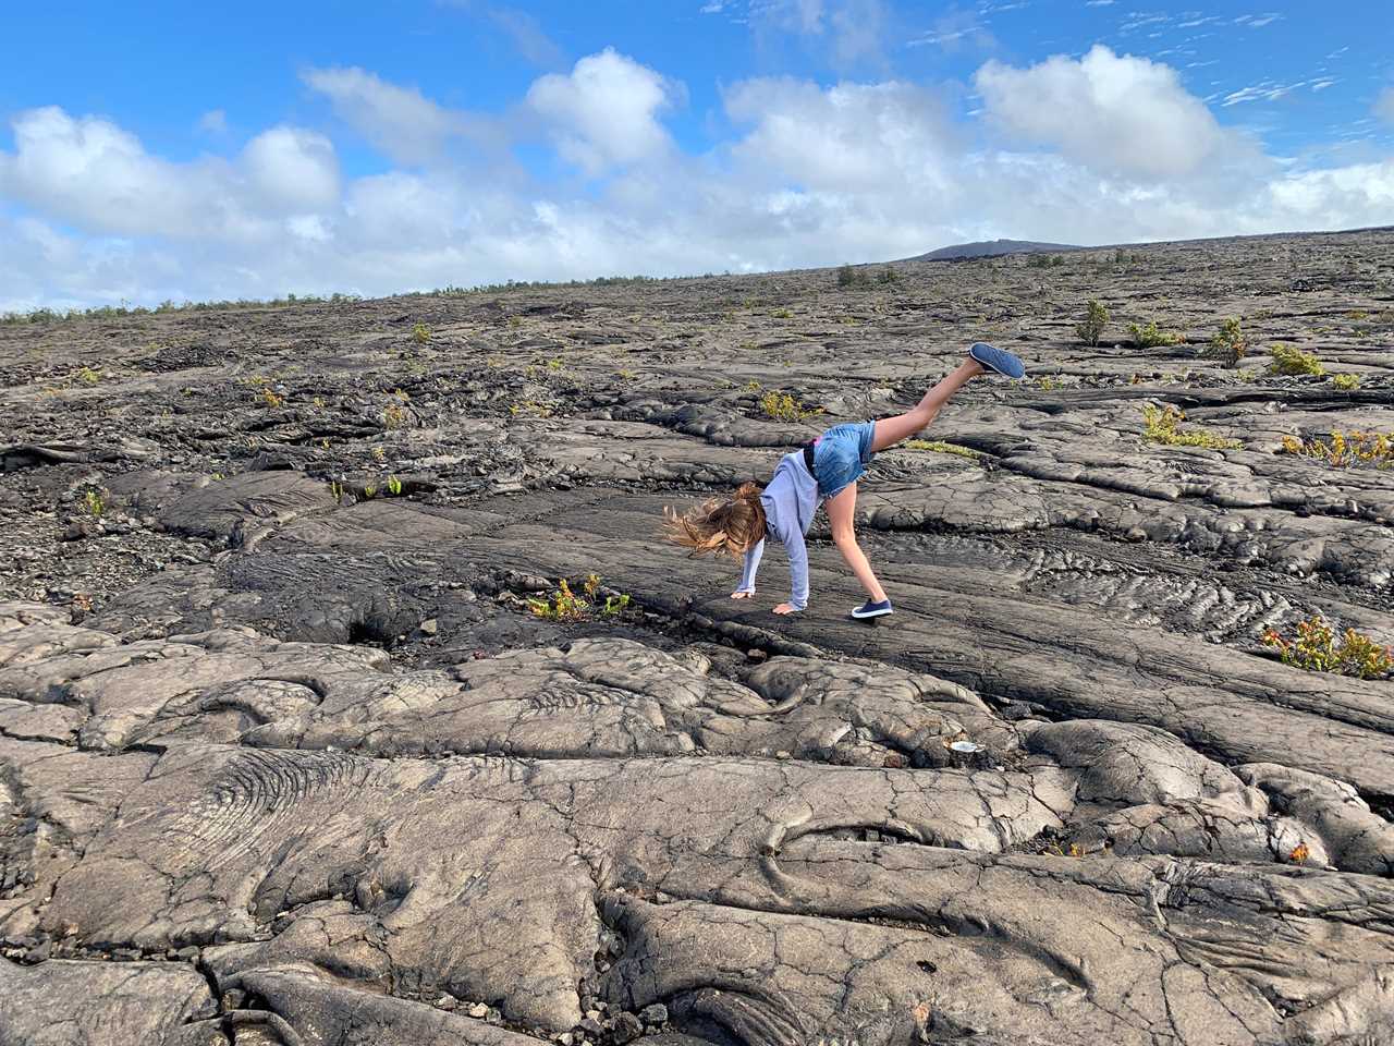
[{"label": "large puffy white cloud at upper right, above the distant dark hill", "polygon": [[988,116],[1009,134],[1065,156],[1142,177],[1197,172],[1228,144],[1170,66],[1094,45],[1019,70],[988,61],[973,77]]}]

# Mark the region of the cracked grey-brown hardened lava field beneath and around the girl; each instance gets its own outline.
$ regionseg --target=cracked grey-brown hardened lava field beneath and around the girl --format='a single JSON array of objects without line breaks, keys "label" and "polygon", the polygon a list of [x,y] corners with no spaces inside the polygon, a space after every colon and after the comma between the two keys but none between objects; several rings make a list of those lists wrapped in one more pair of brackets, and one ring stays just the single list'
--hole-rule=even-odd
[{"label": "cracked grey-brown hardened lava field beneath and around the girl", "polygon": [[[0,326],[0,1043],[1394,1040],[1394,232],[1062,258]],[[977,339],[895,618],[657,540]]]}]

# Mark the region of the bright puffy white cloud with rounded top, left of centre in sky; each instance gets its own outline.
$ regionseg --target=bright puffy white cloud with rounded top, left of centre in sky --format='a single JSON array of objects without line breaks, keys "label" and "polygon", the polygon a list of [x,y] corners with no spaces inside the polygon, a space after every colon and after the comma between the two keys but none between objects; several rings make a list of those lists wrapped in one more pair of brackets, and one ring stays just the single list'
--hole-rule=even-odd
[{"label": "bright puffy white cloud with rounded top, left of centre in sky", "polygon": [[527,102],[548,121],[558,151],[598,176],[666,153],[672,141],[658,113],[680,93],[654,70],[606,47],[569,74],[534,81]]}]

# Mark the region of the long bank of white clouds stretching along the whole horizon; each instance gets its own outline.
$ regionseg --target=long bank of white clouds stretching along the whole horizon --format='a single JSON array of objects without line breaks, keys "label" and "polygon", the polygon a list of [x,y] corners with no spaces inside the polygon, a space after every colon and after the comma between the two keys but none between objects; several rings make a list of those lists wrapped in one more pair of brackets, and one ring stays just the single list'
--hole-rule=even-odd
[{"label": "long bank of white clouds stretching along the whole horizon", "polygon": [[[817,3],[788,14],[831,25]],[[969,120],[947,91],[895,79],[744,79],[725,86],[723,137],[701,153],[665,126],[684,86],[613,49],[535,78],[503,114],[361,68],[302,79],[337,128],[268,127],[185,162],[107,119],[18,113],[13,152],[0,149],[0,311],[740,272],[997,236],[1119,243],[1394,213],[1394,158],[1280,162],[1171,67],[1103,46],[986,63]],[[346,177],[340,132],[392,167]],[[506,159],[521,146],[573,177],[534,181]],[[484,162],[488,149],[505,160]]]}]

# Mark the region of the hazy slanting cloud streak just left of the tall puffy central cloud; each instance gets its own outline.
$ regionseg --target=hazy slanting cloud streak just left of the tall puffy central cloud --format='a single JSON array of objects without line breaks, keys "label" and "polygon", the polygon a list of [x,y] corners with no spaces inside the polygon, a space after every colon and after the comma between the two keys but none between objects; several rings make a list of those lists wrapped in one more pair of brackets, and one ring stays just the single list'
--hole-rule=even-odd
[{"label": "hazy slanting cloud streak just left of the tall puffy central cloud", "polygon": [[301,79],[325,95],[340,120],[401,163],[424,163],[464,130],[460,114],[420,91],[397,86],[361,68],[311,68]]}]

